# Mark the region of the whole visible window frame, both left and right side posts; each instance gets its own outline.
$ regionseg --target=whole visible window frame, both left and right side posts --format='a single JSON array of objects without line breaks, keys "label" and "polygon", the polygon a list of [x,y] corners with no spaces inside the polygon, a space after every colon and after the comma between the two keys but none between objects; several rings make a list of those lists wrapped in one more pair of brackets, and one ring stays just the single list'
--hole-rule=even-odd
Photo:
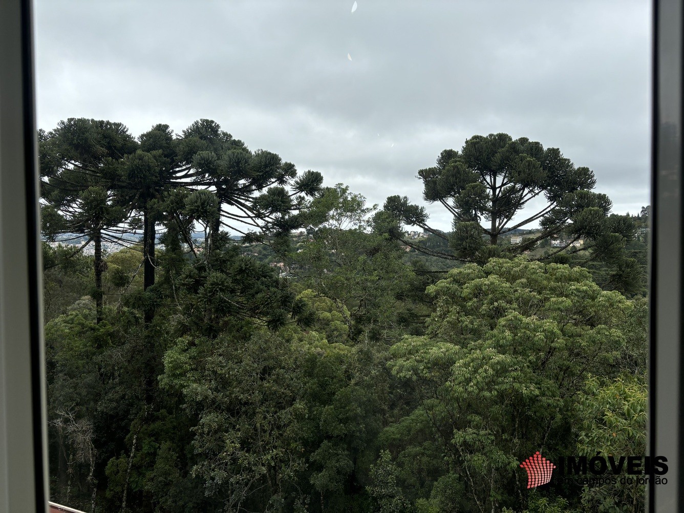
[{"label": "whole visible window frame, both left and right side posts", "polygon": [[[11,512],[47,511],[49,497],[31,7],[0,1],[0,511]],[[647,453],[669,466],[667,485],[648,486],[653,512],[684,506],[683,22],[684,0],[653,1]]]}]

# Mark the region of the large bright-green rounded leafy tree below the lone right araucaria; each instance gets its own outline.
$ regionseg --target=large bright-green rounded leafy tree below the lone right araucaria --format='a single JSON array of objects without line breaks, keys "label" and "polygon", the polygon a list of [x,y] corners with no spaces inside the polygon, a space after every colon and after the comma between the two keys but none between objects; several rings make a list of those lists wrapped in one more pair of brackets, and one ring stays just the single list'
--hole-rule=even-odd
[{"label": "large bright-green rounded leafy tree below the lone right araucaria", "polygon": [[391,350],[393,373],[415,385],[419,404],[382,440],[401,448],[409,473],[416,453],[444,454],[428,456],[430,471],[460,483],[464,508],[521,503],[518,462],[540,448],[568,451],[566,412],[586,373],[615,373],[633,306],[584,269],[524,259],[453,269],[429,292],[428,334]]}]

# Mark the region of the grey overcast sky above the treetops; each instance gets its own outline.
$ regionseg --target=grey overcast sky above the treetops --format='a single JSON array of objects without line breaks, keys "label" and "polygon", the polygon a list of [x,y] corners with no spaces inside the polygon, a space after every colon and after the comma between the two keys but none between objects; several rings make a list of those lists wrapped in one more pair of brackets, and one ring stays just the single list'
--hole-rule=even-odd
[{"label": "grey overcast sky above the treetops", "polygon": [[[555,146],[649,202],[650,1],[36,0],[38,126],[211,118],[382,206],[475,134]],[[451,218],[428,207],[432,224]]]}]

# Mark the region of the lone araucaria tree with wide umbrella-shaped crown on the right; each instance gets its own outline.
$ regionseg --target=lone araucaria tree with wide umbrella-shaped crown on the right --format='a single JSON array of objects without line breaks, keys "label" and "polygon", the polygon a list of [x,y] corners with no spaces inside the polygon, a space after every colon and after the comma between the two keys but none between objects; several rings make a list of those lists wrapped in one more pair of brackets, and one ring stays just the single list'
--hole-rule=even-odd
[{"label": "lone araucaria tree with wide umbrella-shaped crown on the right", "polygon": [[[577,253],[594,246],[594,259],[620,260],[620,248],[633,237],[633,226],[609,218],[611,201],[591,190],[596,185],[589,168],[576,167],[558,148],[546,148],[526,137],[513,140],[505,133],[474,135],[460,151],[444,150],[436,166],[419,170],[423,198],[440,203],[453,215],[453,232],[428,225],[423,207],[411,205],[406,196],[387,198],[384,208],[399,224],[419,226],[449,242],[453,252],[424,248],[401,231],[395,237],[421,252],[444,259],[482,263],[491,257],[521,254],[553,235],[564,233],[564,243],[543,258],[564,250]],[[540,209],[532,200],[544,198]],[[540,226],[539,233],[518,244],[502,246],[502,236],[525,226]],[[575,249],[572,244],[590,244]],[[602,248],[610,248],[603,250]],[[624,261],[622,265],[628,265]]]}]

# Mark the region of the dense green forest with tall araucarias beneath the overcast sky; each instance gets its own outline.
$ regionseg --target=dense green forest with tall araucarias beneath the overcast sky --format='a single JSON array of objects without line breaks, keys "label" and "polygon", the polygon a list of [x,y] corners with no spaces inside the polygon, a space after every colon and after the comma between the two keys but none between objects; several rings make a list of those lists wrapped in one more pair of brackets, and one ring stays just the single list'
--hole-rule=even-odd
[{"label": "dense green forest with tall araucarias beneath the overcast sky", "polygon": [[521,468],[646,452],[650,209],[558,148],[473,135],[415,170],[443,231],[212,120],[38,140],[51,500],[644,511],[642,484]]}]

